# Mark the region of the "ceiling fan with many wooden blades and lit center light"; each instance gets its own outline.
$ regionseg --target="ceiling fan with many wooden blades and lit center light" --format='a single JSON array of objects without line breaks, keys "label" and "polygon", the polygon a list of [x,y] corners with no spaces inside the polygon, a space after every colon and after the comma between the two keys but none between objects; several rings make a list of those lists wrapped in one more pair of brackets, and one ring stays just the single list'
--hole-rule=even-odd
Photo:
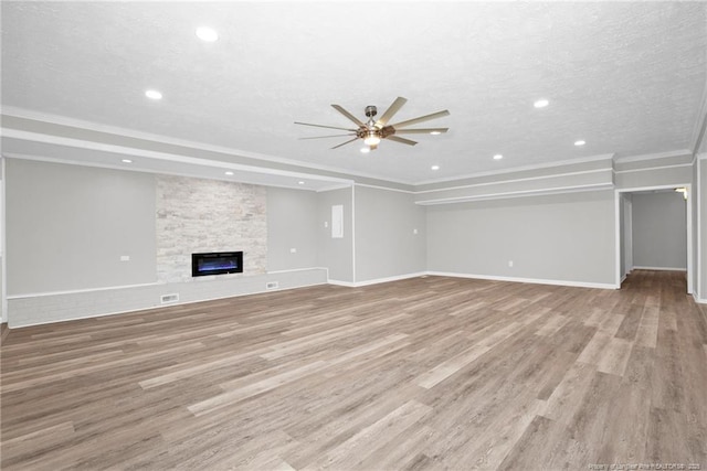
[{"label": "ceiling fan with many wooden blades and lit center light", "polygon": [[387,139],[393,142],[404,143],[408,146],[414,146],[418,142],[410,139],[401,138],[399,135],[414,135],[414,133],[439,135],[442,132],[446,132],[450,129],[450,128],[404,129],[408,126],[412,126],[419,122],[429,121],[431,119],[436,119],[443,116],[447,116],[450,111],[446,109],[443,111],[433,113],[431,115],[421,116],[419,118],[408,119],[407,121],[397,122],[394,125],[389,125],[388,121],[390,121],[390,119],[395,115],[395,113],[400,110],[400,108],[402,108],[402,106],[408,100],[403,97],[395,98],[395,100],[388,107],[386,113],[383,113],[383,115],[379,119],[374,119],[374,117],[378,115],[378,109],[372,105],[367,106],[365,113],[368,120],[366,122],[361,121],[356,116],[351,115],[341,106],[331,105],[334,109],[336,109],[341,115],[346,116],[349,120],[351,120],[354,124],[356,124],[357,127],[354,129],[341,128],[337,126],[313,125],[309,122],[299,122],[299,121],[295,121],[295,125],[314,126],[317,128],[339,129],[342,131],[348,131],[348,133],[346,135],[315,136],[310,138],[300,138],[300,140],[327,139],[327,138],[336,138],[336,137],[342,137],[342,136],[354,136],[352,139],[349,139],[346,142],[341,142],[338,146],[334,146],[331,149],[338,149],[341,146],[346,146],[347,143],[354,142],[355,140],[363,139],[363,143],[366,143],[368,148],[363,148],[362,151],[376,150],[382,139]]}]

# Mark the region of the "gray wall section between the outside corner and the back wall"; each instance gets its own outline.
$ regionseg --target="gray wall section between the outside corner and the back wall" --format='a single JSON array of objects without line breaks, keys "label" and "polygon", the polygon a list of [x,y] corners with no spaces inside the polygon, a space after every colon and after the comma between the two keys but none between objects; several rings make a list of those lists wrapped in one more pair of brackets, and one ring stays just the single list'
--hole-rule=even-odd
[{"label": "gray wall section between the outside corner and the back wall", "polygon": [[414,195],[357,185],[355,197],[356,281],[426,270],[425,208]]}]

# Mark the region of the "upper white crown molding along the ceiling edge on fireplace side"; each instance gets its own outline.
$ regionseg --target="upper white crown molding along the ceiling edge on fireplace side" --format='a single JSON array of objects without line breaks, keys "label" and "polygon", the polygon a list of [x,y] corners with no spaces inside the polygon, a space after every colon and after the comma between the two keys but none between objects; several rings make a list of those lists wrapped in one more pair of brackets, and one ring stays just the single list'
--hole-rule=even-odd
[{"label": "upper white crown molding along the ceiling edge on fireplace side", "polygon": [[[351,170],[340,169],[340,168],[337,168],[337,167],[318,165],[318,164],[314,164],[314,163],[306,163],[306,162],[302,162],[299,160],[287,159],[287,158],[284,158],[284,157],[276,157],[276,156],[270,156],[270,154],[264,154],[264,153],[251,152],[251,151],[246,151],[246,150],[233,149],[233,148],[229,148],[229,147],[214,146],[214,144],[209,144],[209,143],[204,143],[204,142],[190,141],[190,140],[178,139],[178,138],[171,138],[171,137],[168,137],[168,136],[155,135],[155,133],[150,133],[150,132],[138,131],[138,130],[135,130],[135,129],[126,129],[126,128],[120,128],[120,127],[117,127],[117,126],[99,125],[99,124],[92,122],[92,121],[85,121],[85,120],[81,120],[81,119],[68,118],[68,117],[61,116],[61,115],[52,115],[52,114],[48,114],[48,113],[33,111],[33,110],[30,110],[30,109],[18,108],[18,107],[13,107],[13,106],[3,106],[2,107],[2,115],[11,116],[11,117],[14,117],[14,118],[23,118],[23,119],[32,119],[32,120],[36,120],[36,121],[44,121],[44,122],[49,122],[49,124],[52,124],[52,125],[81,128],[81,129],[85,129],[85,130],[89,130],[89,131],[106,132],[106,133],[112,133],[112,135],[126,137],[126,138],[150,140],[150,141],[158,142],[158,143],[165,143],[165,144],[170,144],[170,146],[179,146],[179,147],[184,147],[184,148],[198,149],[198,150],[203,150],[203,151],[207,151],[207,152],[218,152],[218,153],[224,153],[224,154],[229,154],[229,156],[244,157],[244,158],[249,158],[249,159],[261,160],[263,162],[284,163],[284,164],[288,164],[288,165],[300,167],[300,168],[312,169],[312,170],[319,170],[319,171],[324,171],[324,172],[341,173],[341,174],[347,175],[347,176],[348,175],[361,176],[361,178],[365,178],[365,179],[382,180],[382,181],[387,181],[387,182],[391,182],[391,183],[398,183],[398,184],[404,184],[404,185],[414,185],[413,182],[410,182],[410,181],[407,181],[407,180],[395,180],[395,179],[391,179],[389,176],[382,176],[382,175],[377,175],[377,174],[372,174],[372,173],[365,173],[365,172],[356,172],[356,171],[351,171]],[[8,128],[2,128],[1,131],[4,135],[8,131]]]}]

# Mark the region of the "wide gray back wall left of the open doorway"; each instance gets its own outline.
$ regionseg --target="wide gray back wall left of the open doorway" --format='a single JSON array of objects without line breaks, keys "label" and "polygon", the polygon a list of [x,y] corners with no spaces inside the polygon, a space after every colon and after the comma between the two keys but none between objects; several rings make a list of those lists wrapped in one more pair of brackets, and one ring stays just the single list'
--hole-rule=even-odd
[{"label": "wide gray back wall left of the open doorway", "polygon": [[613,285],[614,237],[613,191],[430,206],[428,269]]}]

